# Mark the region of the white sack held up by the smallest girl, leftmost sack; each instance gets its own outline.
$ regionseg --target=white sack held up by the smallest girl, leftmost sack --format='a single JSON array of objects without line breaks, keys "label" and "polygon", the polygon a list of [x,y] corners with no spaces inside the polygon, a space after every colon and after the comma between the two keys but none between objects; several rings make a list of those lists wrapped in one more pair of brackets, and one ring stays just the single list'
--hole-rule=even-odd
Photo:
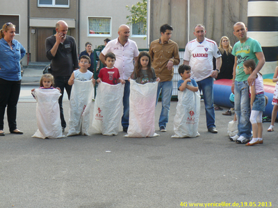
[{"label": "white sack held up by the smallest girl, leftmost sack", "polygon": [[60,121],[58,89],[35,89],[32,93],[37,100],[38,130],[32,137],[56,139],[65,137]]}]

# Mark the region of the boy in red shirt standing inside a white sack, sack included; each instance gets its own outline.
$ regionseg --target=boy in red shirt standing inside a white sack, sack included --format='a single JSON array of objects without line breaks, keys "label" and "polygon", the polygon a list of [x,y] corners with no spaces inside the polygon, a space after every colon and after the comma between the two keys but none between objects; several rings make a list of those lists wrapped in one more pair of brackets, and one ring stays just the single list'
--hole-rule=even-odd
[{"label": "boy in red shirt standing inside a white sack, sack included", "polygon": [[[122,114],[122,96],[125,81],[120,78],[119,69],[114,67],[116,56],[107,53],[104,57],[106,67],[100,69],[97,83],[97,96],[92,118],[92,130],[95,134],[117,135]],[[118,83],[122,83],[118,85]]]}]

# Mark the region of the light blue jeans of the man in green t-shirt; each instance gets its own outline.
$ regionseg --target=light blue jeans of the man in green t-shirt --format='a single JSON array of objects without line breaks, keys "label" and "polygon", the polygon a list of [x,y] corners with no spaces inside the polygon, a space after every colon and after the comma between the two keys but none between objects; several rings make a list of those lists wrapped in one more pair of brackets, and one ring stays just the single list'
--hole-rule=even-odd
[{"label": "light blue jeans of the man in green t-shirt", "polygon": [[250,123],[250,97],[248,82],[237,82],[234,84],[235,94],[235,112],[238,118],[238,136],[244,136],[247,139],[251,137],[252,125]]}]

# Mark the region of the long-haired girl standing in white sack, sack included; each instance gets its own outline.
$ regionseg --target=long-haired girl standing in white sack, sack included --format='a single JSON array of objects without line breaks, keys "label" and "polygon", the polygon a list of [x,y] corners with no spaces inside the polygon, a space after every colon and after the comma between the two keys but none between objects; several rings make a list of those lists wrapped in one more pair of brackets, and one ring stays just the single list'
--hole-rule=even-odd
[{"label": "long-haired girl standing in white sack, sack included", "polygon": [[156,137],[154,112],[159,78],[151,67],[151,56],[147,51],[138,55],[131,82],[129,96],[129,128],[125,137]]}]

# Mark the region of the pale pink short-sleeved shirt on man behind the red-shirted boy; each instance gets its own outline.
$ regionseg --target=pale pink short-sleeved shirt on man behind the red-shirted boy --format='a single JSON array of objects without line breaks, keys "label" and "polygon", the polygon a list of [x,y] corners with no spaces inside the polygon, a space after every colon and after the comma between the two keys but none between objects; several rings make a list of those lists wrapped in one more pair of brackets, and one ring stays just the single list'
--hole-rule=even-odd
[{"label": "pale pink short-sleeved shirt on man behind the red-shirted boy", "polygon": [[120,78],[127,80],[134,70],[133,58],[138,57],[139,51],[136,42],[127,40],[122,46],[118,39],[111,40],[101,51],[103,55],[112,52],[116,55],[114,67],[119,69]]}]

